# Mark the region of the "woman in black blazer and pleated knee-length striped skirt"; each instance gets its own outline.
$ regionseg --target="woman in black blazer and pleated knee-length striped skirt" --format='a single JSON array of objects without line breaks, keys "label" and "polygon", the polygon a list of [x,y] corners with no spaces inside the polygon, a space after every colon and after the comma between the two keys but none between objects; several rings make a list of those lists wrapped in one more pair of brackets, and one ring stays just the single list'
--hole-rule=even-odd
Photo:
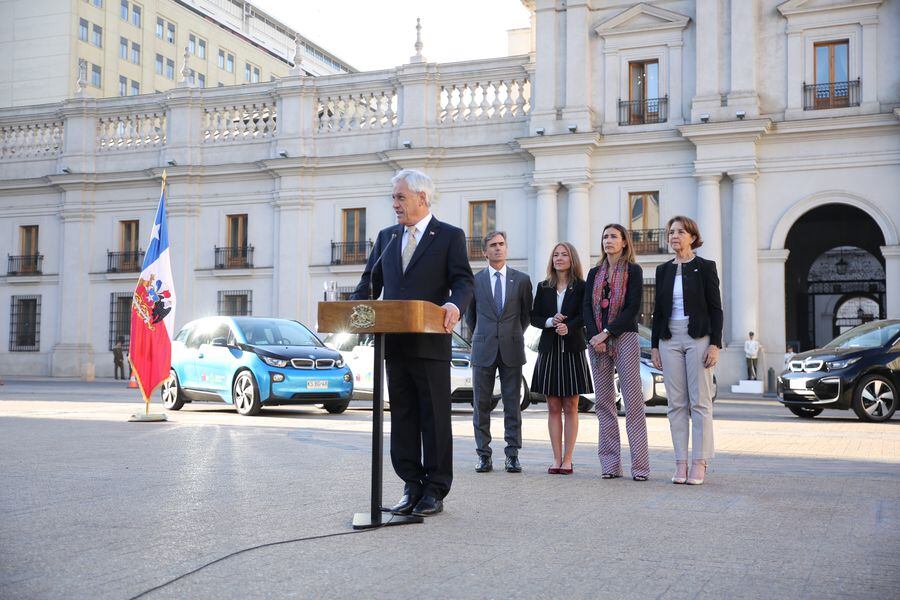
[{"label": "woman in black blazer and pleated knee-length striped skirt", "polygon": [[547,265],[547,279],[538,284],[531,310],[531,324],[543,329],[531,390],[547,396],[547,428],[553,448],[553,465],[548,473],[572,473],[578,396],[593,391],[584,358],[583,273],[575,248],[568,242],[557,244]]}]

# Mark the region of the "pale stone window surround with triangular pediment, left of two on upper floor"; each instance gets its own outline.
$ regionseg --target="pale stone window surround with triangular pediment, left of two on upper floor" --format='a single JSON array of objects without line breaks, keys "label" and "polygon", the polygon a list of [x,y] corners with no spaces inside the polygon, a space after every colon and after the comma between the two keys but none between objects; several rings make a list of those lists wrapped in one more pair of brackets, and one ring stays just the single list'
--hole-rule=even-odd
[{"label": "pale stone window surround with triangular pediment, left of two on upper floor", "polygon": [[[603,131],[639,131],[684,123],[682,114],[684,85],[684,31],[690,17],[670,10],[637,4],[607,19],[594,28],[603,40],[604,104]],[[631,98],[629,63],[655,60],[659,69],[658,98]],[[665,104],[667,115],[663,123],[634,123],[622,121],[619,105],[622,102],[650,103],[657,108]],[[641,107],[643,111],[643,107]],[[631,114],[631,113],[629,113]],[[644,112],[641,112],[644,114]]]}]

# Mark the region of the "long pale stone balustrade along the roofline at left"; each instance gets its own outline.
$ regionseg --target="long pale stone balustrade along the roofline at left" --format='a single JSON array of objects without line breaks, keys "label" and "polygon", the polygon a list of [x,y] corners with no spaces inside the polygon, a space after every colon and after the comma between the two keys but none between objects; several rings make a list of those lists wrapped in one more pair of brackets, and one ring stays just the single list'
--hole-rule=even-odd
[{"label": "long pale stone balustrade along the roofline at left", "polygon": [[[396,134],[394,138],[380,134],[398,128],[404,132],[494,123],[519,128],[531,110],[528,60],[517,56],[421,68],[404,65],[366,73],[287,77],[227,88],[187,86],[143,96],[79,97],[0,109],[0,178],[46,174],[63,167],[97,172],[118,168],[108,160],[90,162],[91,155],[99,160],[126,152],[132,157],[129,168],[148,168],[175,158],[179,164],[190,162],[195,155],[186,149],[202,146],[224,151],[260,144],[246,157],[257,160],[283,156],[288,148],[292,153],[342,154],[345,144],[335,145],[339,139],[366,133],[379,135],[365,136],[363,146],[353,150],[383,150],[385,144],[398,141]],[[280,114],[287,121],[279,123]],[[508,136],[509,131],[502,135]],[[66,141],[69,135],[75,136],[71,143]],[[310,143],[315,137],[323,144]],[[268,143],[276,140],[280,140],[277,148]],[[466,143],[465,135],[448,140]],[[138,150],[164,152],[128,152]],[[70,162],[69,157],[75,158]],[[16,165],[25,160],[31,163],[22,171]],[[40,161],[50,160],[59,164],[41,166]]]}]

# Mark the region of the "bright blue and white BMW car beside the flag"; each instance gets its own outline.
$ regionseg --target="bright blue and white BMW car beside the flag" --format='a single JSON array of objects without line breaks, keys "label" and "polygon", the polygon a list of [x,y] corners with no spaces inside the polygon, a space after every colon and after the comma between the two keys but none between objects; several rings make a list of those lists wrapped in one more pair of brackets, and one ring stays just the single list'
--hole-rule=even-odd
[{"label": "bright blue and white BMW car beside the flag", "polygon": [[232,404],[242,415],[290,404],[342,413],[353,396],[353,376],[339,352],[297,321],[206,317],[175,337],[160,393],[169,410],[206,401]]}]

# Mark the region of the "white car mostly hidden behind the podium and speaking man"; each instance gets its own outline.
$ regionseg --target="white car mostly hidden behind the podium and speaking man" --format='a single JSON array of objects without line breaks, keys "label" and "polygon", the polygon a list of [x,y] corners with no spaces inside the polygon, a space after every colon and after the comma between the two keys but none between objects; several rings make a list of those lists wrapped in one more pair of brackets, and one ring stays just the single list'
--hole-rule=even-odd
[{"label": "white car mostly hidden behind the podium and speaking man", "polygon": [[[358,398],[369,399],[374,388],[375,370],[375,336],[356,333],[330,333],[325,336],[325,345],[341,353],[350,371],[353,373],[353,392]],[[453,333],[453,358],[450,360],[450,401],[472,403],[472,346],[457,333]],[[385,408],[390,408],[390,396],[387,391],[387,377],[384,379]],[[494,403],[500,401],[500,379],[494,380]]]}]

